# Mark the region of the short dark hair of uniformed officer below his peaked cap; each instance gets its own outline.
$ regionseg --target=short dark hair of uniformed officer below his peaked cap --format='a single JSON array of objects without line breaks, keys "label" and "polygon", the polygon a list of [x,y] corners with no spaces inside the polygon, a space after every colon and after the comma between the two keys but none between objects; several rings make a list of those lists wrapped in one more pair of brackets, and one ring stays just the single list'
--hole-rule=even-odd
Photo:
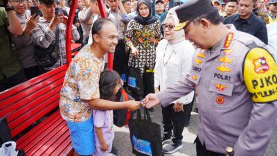
[{"label": "short dark hair of uniformed officer below his peaked cap", "polygon": [[222,17],[220,17],[220,14],[215,9],[210,10],[205,14],[200,15],[199,17],[196,17],[192,21],[195,24],[199,24],[200,19],[207,19],[208,21],[210,21],[212,24],[215,24],[215,25],[218,25],[222,22]]}]

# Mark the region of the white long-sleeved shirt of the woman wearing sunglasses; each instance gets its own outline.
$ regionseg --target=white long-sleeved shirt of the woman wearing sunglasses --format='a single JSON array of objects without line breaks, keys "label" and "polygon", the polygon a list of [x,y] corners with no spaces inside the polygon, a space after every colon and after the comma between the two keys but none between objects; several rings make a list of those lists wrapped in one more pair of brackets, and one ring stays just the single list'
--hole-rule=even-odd
[{"label": "white long-sleeved shirt of the woman wearing sunglasses", "polygon": [[[168,40],[163,39],[159,42],[156,53],[154,87],[160,86],[163,91],[189,73],[195,49],[187,40],[177,44],[168,44]],[[179,98],[177,102],[188,104],[193,101],[193,96],[194,92],[190,92]]]}]

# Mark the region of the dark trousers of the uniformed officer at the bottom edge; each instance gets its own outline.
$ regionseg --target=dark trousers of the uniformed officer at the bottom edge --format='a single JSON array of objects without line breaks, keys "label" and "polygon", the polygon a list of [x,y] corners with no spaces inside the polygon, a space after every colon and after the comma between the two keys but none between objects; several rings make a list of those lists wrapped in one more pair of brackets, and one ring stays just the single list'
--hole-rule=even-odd
[{"label": "dark trousers of the uniformed officer at the bottom edge", "polygon": [[225,156],[225,154],[222,153],[215,153],[210,150],[206,150],[205,142],[204,145],[202,145],[198,137],[195,139],[195,143],[197,156]]}]

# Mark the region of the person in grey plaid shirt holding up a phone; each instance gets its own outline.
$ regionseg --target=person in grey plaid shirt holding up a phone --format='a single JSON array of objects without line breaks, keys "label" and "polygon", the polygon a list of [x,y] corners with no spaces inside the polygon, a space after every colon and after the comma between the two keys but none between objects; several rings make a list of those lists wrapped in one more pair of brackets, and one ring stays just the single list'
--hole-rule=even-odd
[{"label": "person in grey plaid shirt holding up a phone", "polygon": [[[55,14],[54,0],[39,0],[39,9],[42,10],[43,16],[39,17],[37,26],[31,33],[34,43],[46,49],[50,44],[58,42],[60,49],[60,58],[57,62],[51,67],[44,68],[49,71],[66,64],[65,33],[67,17],[62,12]],[[55,32],[56,26],[58,26],[59,32]],[[56,41],[57,33],[59,34],[58,41]],[[78,40],[80,37],[75,26],[72,26],[71,34],[73,40]]]}]

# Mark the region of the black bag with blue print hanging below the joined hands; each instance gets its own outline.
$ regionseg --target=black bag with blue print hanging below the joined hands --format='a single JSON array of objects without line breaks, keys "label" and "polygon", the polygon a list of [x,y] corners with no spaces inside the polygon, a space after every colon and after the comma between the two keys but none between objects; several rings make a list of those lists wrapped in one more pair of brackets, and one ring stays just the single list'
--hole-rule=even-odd
[{"label": "black bag with blue print hanging below the joined hands", "polygon": [[135,155],[162,156],[161,127],[153,123],[148,110],[144,108],[144,119],[140,110],[136,111],[136,119],[129,119],[129,132],[132,150]]}]

